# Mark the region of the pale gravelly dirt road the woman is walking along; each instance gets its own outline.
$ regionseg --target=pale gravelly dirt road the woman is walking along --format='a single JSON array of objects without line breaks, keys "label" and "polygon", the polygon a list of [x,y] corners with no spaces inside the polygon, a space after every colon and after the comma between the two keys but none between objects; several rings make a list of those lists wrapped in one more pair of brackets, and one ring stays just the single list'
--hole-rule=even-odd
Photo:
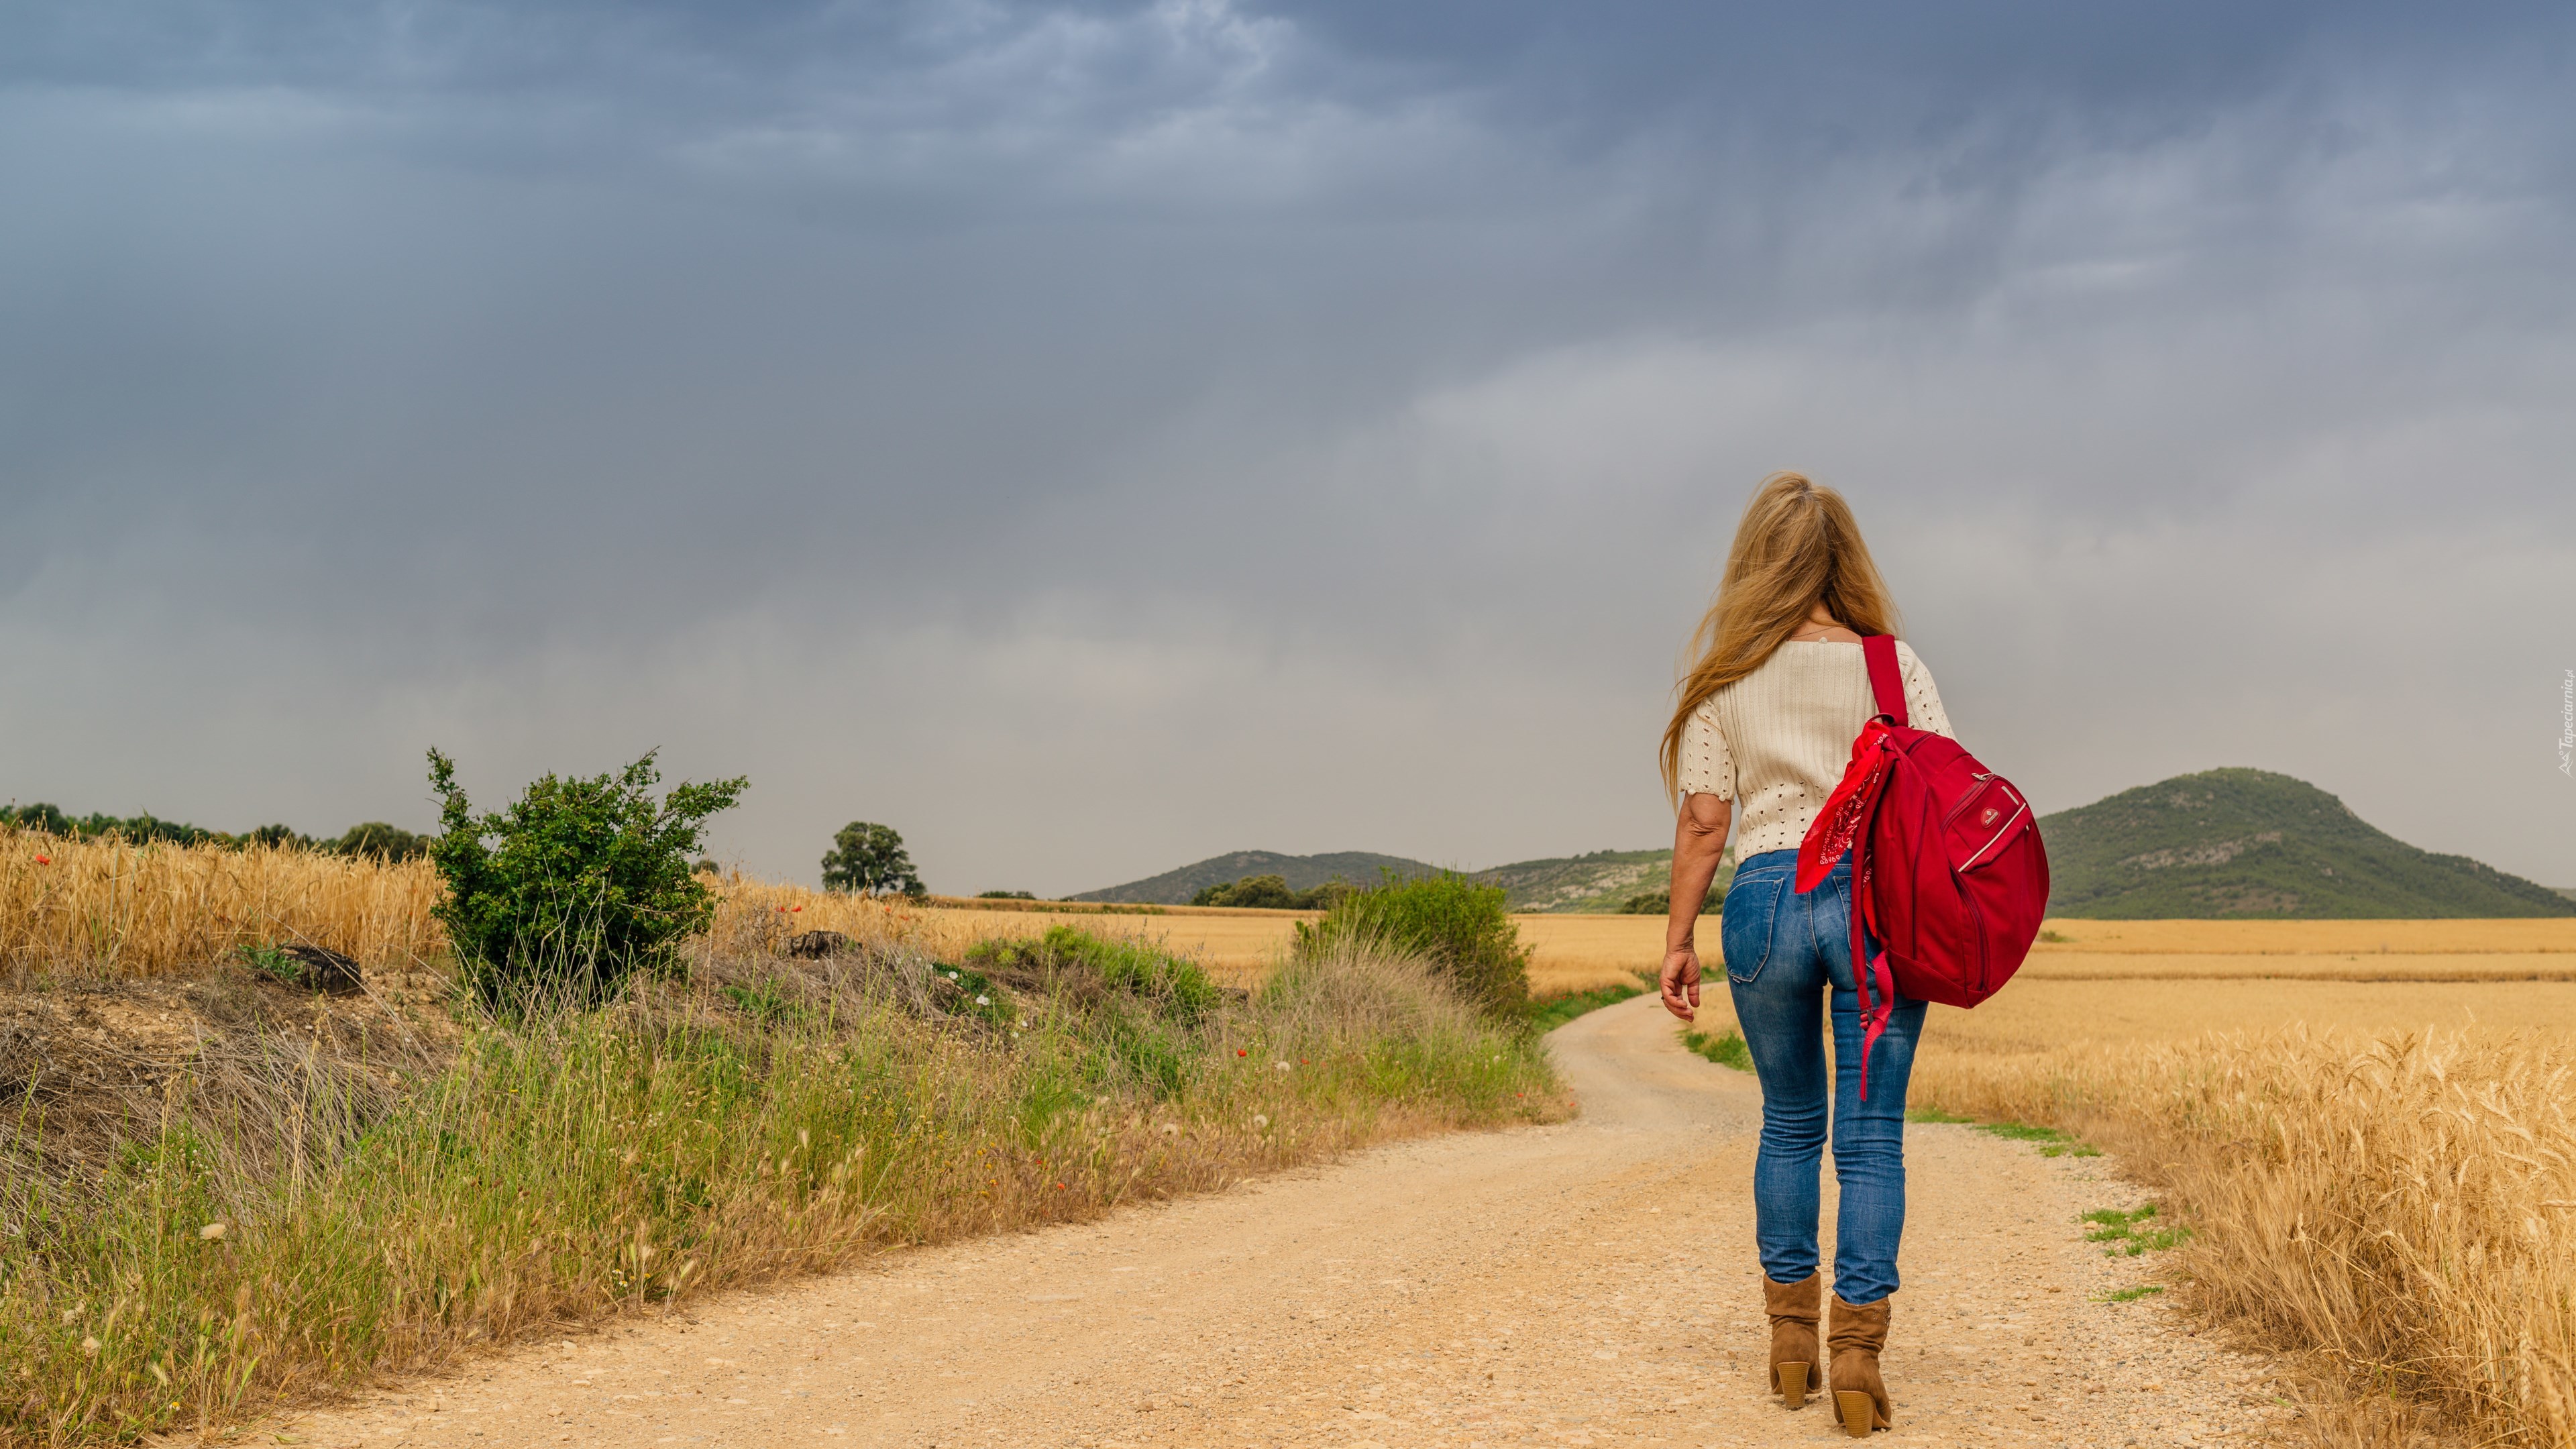
[{"label": "pale gravelly dirt road the woman is walking along", "polygon": [[[1937,1026],[1937,1024],[1935,1024]],[[1556,1034],[1584,1114],[927,1248],[281,1426],[307,1444],[1832,1444],[1762,1395],[1752,1078],[1651,998]],[[1914,1127],[1883,1444],[2254,1444],[2259,1364],[2076,1214],[2099,1158]],[[1832,1178],[1826,1178],[1832,1225]],[[1832,1256],[1832,1248],[1826,1248]]]}]

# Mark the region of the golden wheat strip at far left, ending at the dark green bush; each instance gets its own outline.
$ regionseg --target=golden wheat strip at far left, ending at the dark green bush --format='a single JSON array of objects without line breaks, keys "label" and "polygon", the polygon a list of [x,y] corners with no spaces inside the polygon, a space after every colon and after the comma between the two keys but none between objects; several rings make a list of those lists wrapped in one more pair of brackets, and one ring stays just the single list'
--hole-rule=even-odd
[{"label": "golden wheat strip at far left, ending at the dark green bush", "polygon": [[0,967],[155,977],[250,941],[412,964],[440,949],[430,920],[440,890],[428,861],[0,830]]}]

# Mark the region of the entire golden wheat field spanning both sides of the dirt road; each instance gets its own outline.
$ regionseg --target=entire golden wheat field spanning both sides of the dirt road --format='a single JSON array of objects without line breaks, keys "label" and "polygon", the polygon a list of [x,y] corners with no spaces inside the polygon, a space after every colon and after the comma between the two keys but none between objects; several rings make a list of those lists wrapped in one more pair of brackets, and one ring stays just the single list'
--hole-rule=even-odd
[{"label": "entire golden wheat field spanning both sides of the dirt road", "polygon": [[[804,931],[951,954],[1079,920],[1231,985],[1260,982],[1306,918],[922,905],[747,877],[719,897],[693,941],[708,959]],[[410,969],[443,951],[435,900],[417,861],[0,833],[0,962],[18,972],[167,975],[247,941]],[[1517,920],[1538,995],[1662,959],[1654,915]],[[1700,926],[1716,967],[1716,918]],[[1710,985],[1705,1018],[1726,1026]],[[2197,1230],[2174,1281],[2210,1320],[2365,1385],[2349,1405],[2537,1449],[2576,1444],[2571,1029],[2576,920],[2050,920],[2002,995],[1935,1008],[1914,1101],[2092,1134]]]}]

